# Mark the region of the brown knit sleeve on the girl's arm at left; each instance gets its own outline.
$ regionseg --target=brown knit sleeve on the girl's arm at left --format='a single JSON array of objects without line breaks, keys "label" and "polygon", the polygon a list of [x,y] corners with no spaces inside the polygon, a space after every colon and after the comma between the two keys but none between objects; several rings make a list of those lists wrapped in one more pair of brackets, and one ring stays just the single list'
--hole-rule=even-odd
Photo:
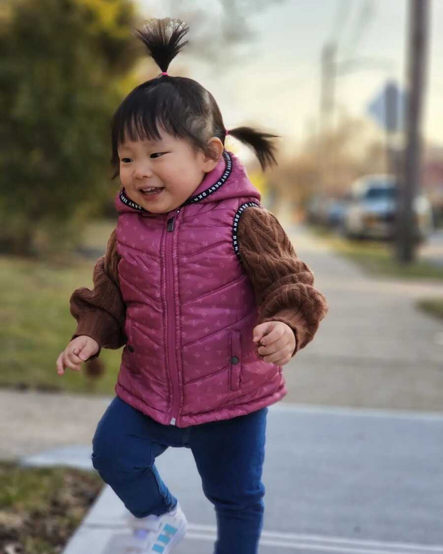
[{"label": "brown knit sleeve on the girl's arm at left", "polygon": [[70,297],[70,312],[77,321],[73,338],[86,335],[99,343],[99,351],[89,358],[100,355],[101,348],[116,350],[126,343],[124,325],[126,306],[123,302],[117,273],[119,254],[115,248],[115,229],[106,248],[94,267],[92,290],[76,289]]}]

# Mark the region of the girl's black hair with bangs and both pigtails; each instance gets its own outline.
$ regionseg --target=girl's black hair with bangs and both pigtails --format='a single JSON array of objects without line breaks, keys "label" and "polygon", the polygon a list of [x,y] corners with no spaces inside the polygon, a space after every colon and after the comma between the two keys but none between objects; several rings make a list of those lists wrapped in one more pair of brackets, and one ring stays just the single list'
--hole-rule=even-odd
[{"label": "girl's black hair with bangs and both pigtails", "polygon": [[[179,19],[148,19],[135,34],[146,45],[148,52],[162,72],[188,43],[180,43],[189,27]],[[112,116],[111,165],[115,170],[112,178],[119,175],[120,160],[117,147],[125,141],[137,139],[160,140],[158,125],[168,134],[185,139],[194,151],[203,151],[215,159],[208,140],[215,136],[225,142],[226,129],[223,117],[213,95],[202,85],[187,77],[158,75],[138,85],[122,101]],[[275,146],[269,139],[278,137],[260,132],[251,127],[236,127],[229,135],[253,148],[260,166],[277,163]]]}]

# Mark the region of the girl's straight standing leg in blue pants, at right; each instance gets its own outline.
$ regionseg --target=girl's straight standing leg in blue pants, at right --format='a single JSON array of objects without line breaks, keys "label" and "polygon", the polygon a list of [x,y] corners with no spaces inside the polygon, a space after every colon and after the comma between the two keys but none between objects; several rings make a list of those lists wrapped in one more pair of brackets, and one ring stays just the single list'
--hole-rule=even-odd
[{"label": "girl's straight standing leg in blue pants, at right", "polygon": [[194,425],[189,446],[214,504],[217,541],[214,554],[256,554],[264,514],[267,407],[233,419]]}]

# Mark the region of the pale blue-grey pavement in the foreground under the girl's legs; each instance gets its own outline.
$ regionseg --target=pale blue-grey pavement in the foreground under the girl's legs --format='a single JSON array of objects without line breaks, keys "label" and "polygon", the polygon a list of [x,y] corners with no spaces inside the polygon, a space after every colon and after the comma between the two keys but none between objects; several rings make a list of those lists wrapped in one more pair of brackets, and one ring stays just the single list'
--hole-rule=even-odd
[{"label": "pale blue-grey pavement in the foreground under the girl's legs", "polygon": [[[441,437],[440,413],[271,406],[260,554],[443,554]],[[174,552],[213,552],[214,507],[192,453],[168,448],[156,465],[189,521]],[[125,511],[106,487],[63,554],[122,554]]]}]

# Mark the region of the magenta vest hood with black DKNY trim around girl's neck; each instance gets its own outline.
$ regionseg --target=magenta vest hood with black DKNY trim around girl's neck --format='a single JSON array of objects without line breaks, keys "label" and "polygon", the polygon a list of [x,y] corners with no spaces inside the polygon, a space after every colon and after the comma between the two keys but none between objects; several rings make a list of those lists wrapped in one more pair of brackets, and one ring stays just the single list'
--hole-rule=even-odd
[{"label": "magenta vest hood with black DKNY trim around girl's neck", "polygon": [[188,204],[218,202],[230,198],[255,197],[260,202],[260,191],[250,182],[246,168],[232,152],[223,151],[217,166],[207,173],[197,189],[181,206],[167,213],[152,213],[127,196],[125,187],[121,187],[115,197],[115,208],[119,213],[143,212],[145,217],[166,218],[169,213]]}]

